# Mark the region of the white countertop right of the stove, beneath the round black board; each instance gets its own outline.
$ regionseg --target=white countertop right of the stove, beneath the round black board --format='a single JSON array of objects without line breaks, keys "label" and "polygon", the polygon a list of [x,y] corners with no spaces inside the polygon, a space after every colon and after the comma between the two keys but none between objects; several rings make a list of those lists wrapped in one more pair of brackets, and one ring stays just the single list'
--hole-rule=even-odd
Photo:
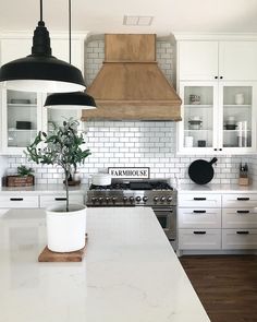
[{"label": "white countertop right of the stove, beneath the round black board", "polygon": [[210,193],[241,193],[249,192],[257,193],[257,184],[250,186],[238,186],[238,184],[180,184],[178,188],[179,192],[210,192]]}]

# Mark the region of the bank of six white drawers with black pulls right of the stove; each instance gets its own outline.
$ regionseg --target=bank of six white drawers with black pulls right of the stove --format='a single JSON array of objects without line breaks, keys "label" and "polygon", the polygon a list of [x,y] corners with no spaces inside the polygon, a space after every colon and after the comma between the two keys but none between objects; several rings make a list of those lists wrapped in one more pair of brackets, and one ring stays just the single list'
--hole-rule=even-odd
[{"label": "bank of six white drawers with black pulls right of the stove", "polygon": [[256,206],[255,192],[179,194],[179,250],[257,249]]}]

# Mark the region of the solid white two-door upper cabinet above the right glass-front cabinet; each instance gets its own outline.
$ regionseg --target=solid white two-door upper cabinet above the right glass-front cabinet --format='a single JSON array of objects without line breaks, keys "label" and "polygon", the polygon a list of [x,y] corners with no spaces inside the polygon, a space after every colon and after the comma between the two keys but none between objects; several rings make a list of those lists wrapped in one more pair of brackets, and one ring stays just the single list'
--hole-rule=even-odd
[{"label": "solid white two-door upper cabinet above the right glass-front cabinet", "polygon": [[180,81],[256,81],[256,40],[182,40],[178,44]]}]

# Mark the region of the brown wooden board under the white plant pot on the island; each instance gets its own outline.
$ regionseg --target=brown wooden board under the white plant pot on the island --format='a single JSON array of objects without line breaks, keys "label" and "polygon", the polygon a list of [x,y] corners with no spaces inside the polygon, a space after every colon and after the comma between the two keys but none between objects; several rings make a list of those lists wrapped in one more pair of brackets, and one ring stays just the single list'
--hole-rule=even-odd
[{"label": "brown wooden board under the white plant pot on the island", "polygon": [[72,252],[54,252],[50,251],[46,246],[38,257],[38,262],[82,262],[86,253],[86,243],[83,249]]}]

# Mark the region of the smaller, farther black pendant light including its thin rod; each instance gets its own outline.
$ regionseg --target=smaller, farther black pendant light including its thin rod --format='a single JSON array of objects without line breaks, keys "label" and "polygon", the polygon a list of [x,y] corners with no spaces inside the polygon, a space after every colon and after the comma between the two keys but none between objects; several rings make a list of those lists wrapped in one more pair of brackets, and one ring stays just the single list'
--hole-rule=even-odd
[{"label": "smaller, farther black pendant light including its thin rod", "polygon": [[[72,57],[72,8],[69,0],[69,56]],[[71,92],[71,91],[69,91]],[[85,92],[54,93],[47,97],[45,107],[52,109],[95,109],[94,97]]]}]

